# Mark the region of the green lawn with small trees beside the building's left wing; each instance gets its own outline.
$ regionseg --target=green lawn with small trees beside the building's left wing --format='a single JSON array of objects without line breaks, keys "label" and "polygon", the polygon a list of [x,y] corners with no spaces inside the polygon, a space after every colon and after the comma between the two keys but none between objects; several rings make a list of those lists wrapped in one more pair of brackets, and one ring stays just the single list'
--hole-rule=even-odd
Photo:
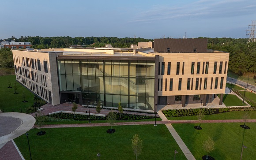
[{"label": "green lawn with small trees beside the building's left wing", "polygon": [[[11,81],[11,87],[8,87],[8,80]],[[22,108],[22,111],[25,112],[25,108],[28,108],[34,104],[34,94],[31,93],[28,89],[26,89],[24,86],[22,86],[19,82],[16,82],[17,84],[17,92],[19,94],[13,94],[15,93],[14,90],[14,82],[15,82],[15,75],[4,75],[0,76],[0,109],[4,112],[12,112],[12,108],[14,109],[14,112],[20,112],[20,108]],[[28,102],[23,103],[23,91],[25,92],[25,100],[28,100]]]}]

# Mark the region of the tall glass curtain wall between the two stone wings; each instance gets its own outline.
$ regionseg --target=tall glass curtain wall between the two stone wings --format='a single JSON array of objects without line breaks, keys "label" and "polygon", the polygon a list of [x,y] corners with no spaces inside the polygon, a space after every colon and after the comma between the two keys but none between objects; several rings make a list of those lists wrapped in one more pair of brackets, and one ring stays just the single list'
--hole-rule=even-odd
[{"label": "tall glass curtain wall between the two stone wings", "polygon": [[153,110],[154,68],[154,61],[58,60],[60,91],[81,93],[83,104]]}]

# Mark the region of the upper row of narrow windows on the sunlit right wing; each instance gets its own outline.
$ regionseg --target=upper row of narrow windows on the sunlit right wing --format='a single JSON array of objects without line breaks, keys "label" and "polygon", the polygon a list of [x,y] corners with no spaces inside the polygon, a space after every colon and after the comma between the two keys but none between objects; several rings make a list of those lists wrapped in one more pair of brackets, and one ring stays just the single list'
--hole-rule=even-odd
[{"label": "upper row of narrow windows on the sunlit right wing", "polygon": [[[182,62],[182,74],[184,74],[184,65],[185,62]],[[197,62],[197,66],[196,66],[196,74],[200,74],[200,65],[201,62]],[[217,65],[218,62],[214,62],[214,70],[213,70],[213,74],[217,73]],[[219,63],[219,74],[222,74],[222,65],[223,62]],[[225,62],[225,69],[224,69],[224,74],[226,74],[226,67],[227,67],[227,62]],[[160,68],[161,68],[161,75],[165,74],[165,62],[159,62],[158,63],[158,75],[160,75]],[[194,70],[195,70],[195,62],[191,63],[191,74],[194,74]],[[202,74],[208,74],[208,70],[209,70],[209,62],[203,62],[203,69],[202,69]],[[171,74],[171,62],[167,63],[167,75]],[[176,75],[180,74],[180,62],[177,62],[176,65]]]}]

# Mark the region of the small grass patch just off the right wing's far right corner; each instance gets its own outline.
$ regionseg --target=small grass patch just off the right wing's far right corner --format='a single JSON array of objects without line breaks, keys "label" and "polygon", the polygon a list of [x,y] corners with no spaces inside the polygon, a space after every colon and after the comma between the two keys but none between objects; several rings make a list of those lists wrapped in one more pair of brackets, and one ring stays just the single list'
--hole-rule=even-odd
[{"label": "small grass patch just off the right wing's far right corner", "polygon": [[[219,97],[219,95],[218,95]],[[236,95],[233,94],[224,94],[223,96],[223,103],[227,106],[244,106],[247,105],[243,103],[242,100],[240,100]]]}]

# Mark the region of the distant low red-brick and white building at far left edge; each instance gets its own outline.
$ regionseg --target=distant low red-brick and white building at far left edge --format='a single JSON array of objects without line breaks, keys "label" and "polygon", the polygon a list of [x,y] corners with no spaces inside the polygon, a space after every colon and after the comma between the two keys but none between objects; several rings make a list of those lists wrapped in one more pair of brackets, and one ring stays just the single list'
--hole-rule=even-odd
[{"label": "distant low red-brick and white building at far left edge", "polygon": [[13,40],[4,40],[0,43],[0,48],[27,49],[31,46],[30,42],[15,42]]}]

